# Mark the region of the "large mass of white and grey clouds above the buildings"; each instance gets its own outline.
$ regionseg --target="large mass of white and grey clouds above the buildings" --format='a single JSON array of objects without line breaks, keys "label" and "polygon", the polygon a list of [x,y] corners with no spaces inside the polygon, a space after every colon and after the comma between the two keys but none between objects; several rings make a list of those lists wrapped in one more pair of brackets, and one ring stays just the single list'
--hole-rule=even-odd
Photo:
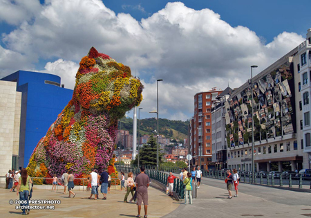
[{"label": "large mass of white and grey clouds above the buildings", "polygon": [[[194,10],[180,2],[167,3],[141,21],[115,15],[100,0],[49,0],[31,16],[32,21],[27,16],[26,21],[15,19],[19,26],[3,35],[0,63],[8,59],[4,52],[26,68],[38,60],[58,59],[48,62],[45,71],[62,76],[62,83],[71,87],[77,63],[95,46],[138,71],[146,110],[156,107],[156,79],[164,80],[159,93],[164,118],[190,117],[195,93],[225,89],[228,82],[239,87],[249,78],[249,66],[258,65],[259,73],[304,40],[284,32],[264,44],[249,28],[232,27],[212,10]],[[1,72],[12,70],[12,64],[0,67]]]}]

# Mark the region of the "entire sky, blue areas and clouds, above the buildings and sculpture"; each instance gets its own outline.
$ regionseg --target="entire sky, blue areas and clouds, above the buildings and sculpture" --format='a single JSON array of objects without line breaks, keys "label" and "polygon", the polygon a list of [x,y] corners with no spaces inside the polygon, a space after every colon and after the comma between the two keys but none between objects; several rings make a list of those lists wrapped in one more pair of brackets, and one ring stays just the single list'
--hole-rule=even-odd
[{"label": "entire sky, blue areas and clouds, above the buildings and sculpture", "polygon": [[[142,118],[187,120],[194,94],[239,87],[305,40],[309,0],[3,0],[0,76],[53,73],[73,89],[79,60],[95,46],[144,84]],[[131,116],[131,113],[129,113]]]}]

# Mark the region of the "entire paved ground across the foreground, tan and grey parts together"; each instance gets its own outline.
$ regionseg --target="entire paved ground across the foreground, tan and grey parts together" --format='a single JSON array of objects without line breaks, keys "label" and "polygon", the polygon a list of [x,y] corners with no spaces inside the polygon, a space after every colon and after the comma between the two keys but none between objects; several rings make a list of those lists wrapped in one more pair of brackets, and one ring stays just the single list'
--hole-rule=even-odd
[{"label": "entire paved ground across the foreground, tan and grey parts together", "polygon": [[[310,217],[311,193],[280,190],[261,185],[240,183],[238,197],[227,199],[224,181],[202,179],[198,198],[193,205],[175,201],[164,192],[149,188],[148,217]],[[32,199],[54,199],[55,210],[32,210],[28,217],[135,217],[137,206],[124,203],[124,191],[111,190],[106,201],[89,200],[90,192],[76,191],[73,199],[66,198],[62,190],[34,190]],[[234,192],[233,192],[234,193]],[[101,197],[101,196],[100,196]],[[1,218],[21,217],[20,210],[10,205],[10,199],[18,199],[16,192],[0,189]],[[143,215],[143,213],[142,213]]]}]

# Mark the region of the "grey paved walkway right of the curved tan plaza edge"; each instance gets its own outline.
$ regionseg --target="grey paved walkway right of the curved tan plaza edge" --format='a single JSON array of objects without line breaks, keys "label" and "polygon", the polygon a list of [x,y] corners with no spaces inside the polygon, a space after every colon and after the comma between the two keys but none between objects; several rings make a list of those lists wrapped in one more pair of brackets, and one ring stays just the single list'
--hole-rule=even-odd
[{"label": "grey paved walkway right of the curved tan plaza edge", "polygon": [[[239,193],[238,197],[227,199],[226,185],[220,182],[223,189],[201,184],[192,205],[182,204],[164,217],[305,217],[302,214],[311,214],[311,206],[290,206],[250,194]],[[284,195],[284,198],[290,196]]]}]

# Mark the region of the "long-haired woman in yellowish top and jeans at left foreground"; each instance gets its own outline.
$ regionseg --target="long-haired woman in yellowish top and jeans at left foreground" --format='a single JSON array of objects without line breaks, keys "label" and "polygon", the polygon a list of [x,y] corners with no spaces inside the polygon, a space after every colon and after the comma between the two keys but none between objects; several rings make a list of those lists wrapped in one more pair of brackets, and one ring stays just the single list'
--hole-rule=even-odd
[{"label": "long-haired woman in yellowish top and jeans at left foreground", "polygon": [[[21,206],[29,206],[28,195],[29,195],[29,183],[32,183],[30,176],[27,174],[27,170],[24,168],[21,170],[21,177],[19,178],[19,185],[17,185],[17,196],[19,195],[19,200],[21,201]],[[22,208],[22,215],[28,215],[29,208]]]}]

